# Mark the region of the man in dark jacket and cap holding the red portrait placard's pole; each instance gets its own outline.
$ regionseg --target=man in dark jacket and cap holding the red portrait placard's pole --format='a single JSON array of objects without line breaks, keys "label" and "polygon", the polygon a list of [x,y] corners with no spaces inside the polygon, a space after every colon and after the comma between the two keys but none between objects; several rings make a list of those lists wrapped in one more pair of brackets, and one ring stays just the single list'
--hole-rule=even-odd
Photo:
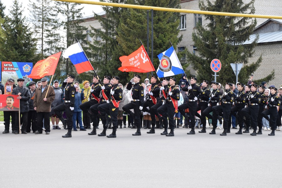
[{"label": "man in dark jacket and cap holding the red portrait placard's pole", "polygon": [[[30,99],[30,93],[29,89],[24,87],[24,79],[19,78],[18,79],[18,86],[13,89],[12,95],[18,95],[17,99],[20,99],[20,117],[22,117],[22,133],[27,134],[26,128],[27,128],[27,118],[28,118],[28,112],[29,112],[29,99]],[[18,112],[13,112],[15,115],[15,134],[19,133],[19,115]]]}]

